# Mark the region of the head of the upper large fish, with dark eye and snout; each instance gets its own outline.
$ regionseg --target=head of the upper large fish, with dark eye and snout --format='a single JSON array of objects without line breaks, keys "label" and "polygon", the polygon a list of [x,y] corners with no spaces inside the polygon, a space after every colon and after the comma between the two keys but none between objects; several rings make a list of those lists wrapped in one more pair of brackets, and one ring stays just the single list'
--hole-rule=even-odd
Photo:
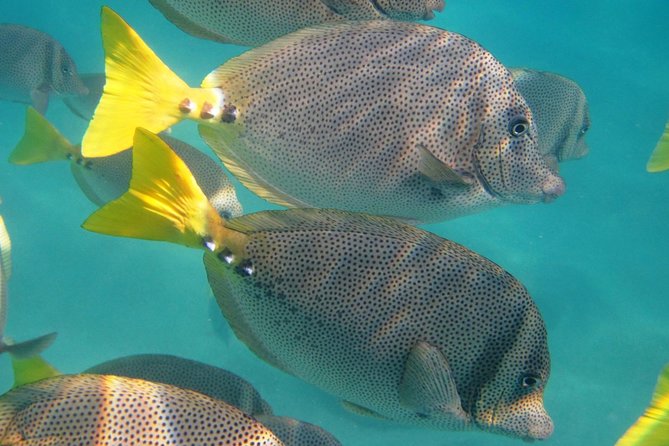
[{"label": "head of the upper large fish, with dark eye and snout", "polygon": [[550,202],[564,193],[538,147],[532,112],[513,85],[497,80],[485,107],[488,113],[474,145],[475,174],[489,194],[512,203]]}]

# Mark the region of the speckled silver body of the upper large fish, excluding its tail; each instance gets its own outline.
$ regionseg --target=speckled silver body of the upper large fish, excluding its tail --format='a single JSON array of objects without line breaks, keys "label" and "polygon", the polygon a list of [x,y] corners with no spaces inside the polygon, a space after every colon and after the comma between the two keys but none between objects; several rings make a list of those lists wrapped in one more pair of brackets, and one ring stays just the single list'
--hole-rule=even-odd
[{"label": "speckled silver body of the upper large fish, excluding its tail", "polygon": [[[507,141],[514,116],[532,120],[508,71],[454,33],[387,21],[319,28],[219,71],[207,85],[220,81],[241,135],[203,137],[294,206],[439,221],[540,201],[554,178],[533,126]],[[471,184],[424,176],[421,147]]]}]

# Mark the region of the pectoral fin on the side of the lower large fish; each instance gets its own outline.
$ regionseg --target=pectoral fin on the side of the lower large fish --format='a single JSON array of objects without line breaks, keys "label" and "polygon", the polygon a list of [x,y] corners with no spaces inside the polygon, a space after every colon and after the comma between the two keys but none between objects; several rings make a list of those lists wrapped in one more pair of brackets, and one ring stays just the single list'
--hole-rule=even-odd
[{"label": "pectoral fin on the side of the lower large fish", "polygon": [[427,342],[419,342],[409,352],[399,388],[400,403],[420,414],[447,412],[465,422],[451,368],[444,355]]}]

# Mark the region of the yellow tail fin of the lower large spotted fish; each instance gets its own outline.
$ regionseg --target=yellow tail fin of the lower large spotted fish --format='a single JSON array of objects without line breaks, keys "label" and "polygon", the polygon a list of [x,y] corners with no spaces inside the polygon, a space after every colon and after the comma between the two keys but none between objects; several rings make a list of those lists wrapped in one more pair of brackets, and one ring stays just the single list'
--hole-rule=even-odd
[{"label": "yellow tail fin of the lower large spotted fish", "polygon": [[128,192],[93,213],[84,229],[202,248],[220,217],[186,164],[157,135],[137,129]]}]

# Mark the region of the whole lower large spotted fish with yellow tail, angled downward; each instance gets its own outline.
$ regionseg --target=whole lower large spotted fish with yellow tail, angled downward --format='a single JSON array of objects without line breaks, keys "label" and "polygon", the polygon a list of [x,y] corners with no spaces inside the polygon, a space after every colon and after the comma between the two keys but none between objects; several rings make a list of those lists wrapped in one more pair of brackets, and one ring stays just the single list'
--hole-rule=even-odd
[{"label": "whole lower large spotted fish with yellow tail, angled downward", "polygon": [[238,339],[355,413],[545,439],[546,328],[525,287],[397,219],[287,209],[222,219],[169,147],[137,129],[130,189],[86,230],[205,251]]}]

